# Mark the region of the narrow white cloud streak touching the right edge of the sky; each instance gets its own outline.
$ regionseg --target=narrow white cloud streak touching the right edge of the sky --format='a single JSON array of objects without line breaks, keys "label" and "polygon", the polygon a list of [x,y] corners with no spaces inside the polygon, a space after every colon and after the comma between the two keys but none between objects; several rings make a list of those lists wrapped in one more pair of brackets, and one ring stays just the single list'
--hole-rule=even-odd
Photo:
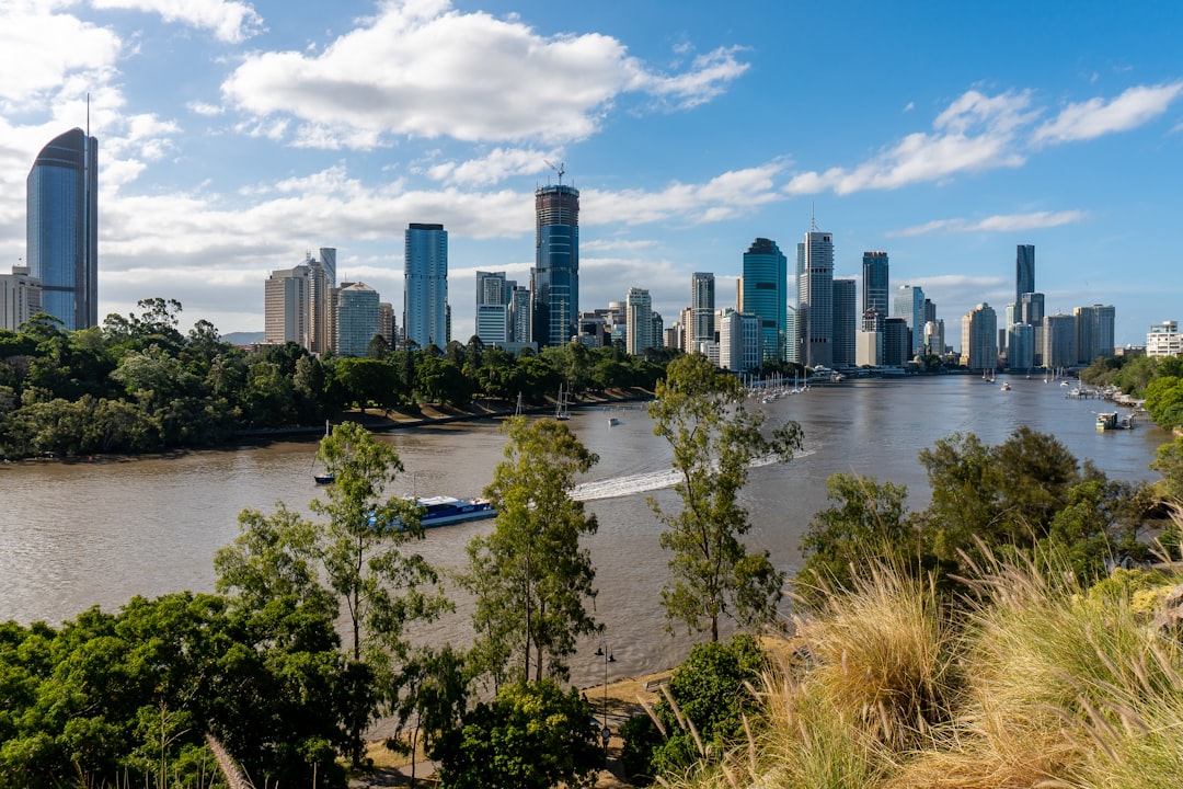
[{"label": "narrow white cloud streak touching the right edge of the sky", "polygon": [[1034,142],[1059,143],[1092,140],[1106,134],[1127,131],[1164,114],[1183,93],[1183,82],[1164,85],[1137,85],[1108,102],[1092,98],[1069,104],[1035,131]]}]

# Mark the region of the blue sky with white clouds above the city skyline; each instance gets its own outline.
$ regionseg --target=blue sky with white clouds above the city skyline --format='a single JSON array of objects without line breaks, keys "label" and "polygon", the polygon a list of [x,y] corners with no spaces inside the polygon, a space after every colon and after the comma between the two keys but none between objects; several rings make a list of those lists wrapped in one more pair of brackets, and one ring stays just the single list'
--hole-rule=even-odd
[{"label": "blue sky with white clouds above the city skyline", "polygon": [[1183,319],[1181,32],[1165,1],[6,0],[0,271],[89,92],[101,316],[261,330],[267,273],[322,246],[401,313],[403,231],[442,222],[466,341],[477,270],[529,280],[549,161],[582,309],[647,287],[668,325],[694,271],[733,303],[751,241],[791,261],[813,215],[835,276],[887,251],[953,345],[1017,244],[1049,312],[1113,304],[1142,344]]}]

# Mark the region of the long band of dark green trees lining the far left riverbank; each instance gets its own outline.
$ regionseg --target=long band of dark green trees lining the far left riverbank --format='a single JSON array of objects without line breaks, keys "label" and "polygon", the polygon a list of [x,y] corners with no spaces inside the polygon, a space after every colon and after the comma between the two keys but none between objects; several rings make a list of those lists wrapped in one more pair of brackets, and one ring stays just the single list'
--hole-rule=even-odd
[{"label": "long band of dark green trees lining the far left riverbank", "polygon": [[565,382],[576,395],[610,387],[652,389],[660,361],[577,344],[521,357],[448,343],[373,357],[311,356],[296,343],[244,350],[199,321],[177,329],[181,304],[146,299],[141,315],[64,331],[38,315],[0,330],[0,457],[161,452],[226,442],[245,431],[311,426],[351,408],[474,397],[541,405]]}]

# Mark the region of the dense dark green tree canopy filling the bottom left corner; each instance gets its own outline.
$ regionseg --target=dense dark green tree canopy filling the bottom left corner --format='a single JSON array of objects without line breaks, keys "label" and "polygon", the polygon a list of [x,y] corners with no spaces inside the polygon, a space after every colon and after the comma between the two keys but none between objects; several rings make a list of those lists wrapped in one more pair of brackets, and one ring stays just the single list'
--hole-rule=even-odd
[{"label": "dense dark green tree canopy filling the bottom left corner", "polygon": [[259,785],[344,785],[332,620],[277,601],[134,599],[54,630],[0,625],[0,785],[213,785],[205,735]]}]

